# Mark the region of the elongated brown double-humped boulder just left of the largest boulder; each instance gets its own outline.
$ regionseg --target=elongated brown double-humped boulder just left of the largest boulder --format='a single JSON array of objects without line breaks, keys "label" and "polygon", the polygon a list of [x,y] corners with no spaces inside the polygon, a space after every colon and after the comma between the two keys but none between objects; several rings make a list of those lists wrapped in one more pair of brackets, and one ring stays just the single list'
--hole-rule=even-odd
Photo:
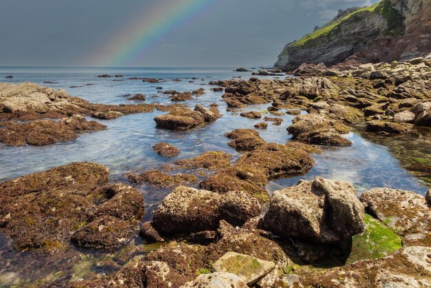
[{"label": "elongated brown double-humped boulder just left of the largest boulder", "polygon": [[215,229],[222,219],[242,225],[260,211],[259,202],[245,192],[217,194],[180,186],[162,200],[153,223],[163,233],[202,232]]}]

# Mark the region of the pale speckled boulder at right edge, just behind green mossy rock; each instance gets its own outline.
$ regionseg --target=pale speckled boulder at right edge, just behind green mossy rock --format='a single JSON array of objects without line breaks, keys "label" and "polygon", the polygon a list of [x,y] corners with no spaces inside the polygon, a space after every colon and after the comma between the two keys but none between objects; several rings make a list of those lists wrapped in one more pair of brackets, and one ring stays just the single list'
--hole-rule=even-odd
[{"label": "pale speckled boulder at right edge, just behind green mossy rock", "polygon": [[414,192],[375,188],[361,195],[366,212],[403,236],[404,246],[431,245],[431,209]]}]

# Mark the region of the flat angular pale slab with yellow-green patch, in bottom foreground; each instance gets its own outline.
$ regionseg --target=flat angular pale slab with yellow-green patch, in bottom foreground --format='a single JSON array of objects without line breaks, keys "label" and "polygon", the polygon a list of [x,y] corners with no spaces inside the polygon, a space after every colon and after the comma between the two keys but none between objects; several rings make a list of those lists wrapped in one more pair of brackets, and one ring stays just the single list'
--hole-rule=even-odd
[{"label": "flat angular pale slab with yellow-green patch, in bottom foreground", "polygon": [[273,271],[275,264],[252,256],[228,252],[215,261],[217,272],[228,272],[240,276],[247,285],[254,285],[260,278]]}]

